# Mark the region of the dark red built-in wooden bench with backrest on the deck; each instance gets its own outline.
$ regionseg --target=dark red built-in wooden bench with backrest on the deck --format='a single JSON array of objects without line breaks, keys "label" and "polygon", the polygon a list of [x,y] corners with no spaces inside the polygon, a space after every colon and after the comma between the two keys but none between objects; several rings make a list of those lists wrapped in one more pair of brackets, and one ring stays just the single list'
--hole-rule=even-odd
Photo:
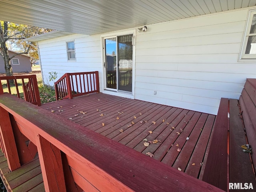
[{"label": "dark red built-in wooden bench with backrest on the deck", "polygon": [[241,148],[250,144],[255,151],[255,138],[256,79],[247,79],[239,101],[220,101],[202,180],[225,191],[228,183],[252,183],[255,189],[256,152],[244,152]]}]

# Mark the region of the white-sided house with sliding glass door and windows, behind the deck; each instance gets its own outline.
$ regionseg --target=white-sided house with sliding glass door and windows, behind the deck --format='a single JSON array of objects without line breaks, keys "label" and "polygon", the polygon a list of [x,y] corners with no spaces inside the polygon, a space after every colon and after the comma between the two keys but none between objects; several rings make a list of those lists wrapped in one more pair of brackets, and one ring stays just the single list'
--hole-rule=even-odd
[{"label": "white-sided house with sliding glass door and windows, behind the deck", "polygon": [[[246,78],[256,78],[255,10],[146,25],[146,32],[138,27],[90,36],[54,31],[27,40],[38,42],[44,82],[48,72],[61,77],[97,70],[100,92],[216,114],[220,98],[238,99]],[[116,68],[116,60],[127,68]],[[128,71],[130,87],[118,80],[109,85],[110,75],[122,79]]]}]

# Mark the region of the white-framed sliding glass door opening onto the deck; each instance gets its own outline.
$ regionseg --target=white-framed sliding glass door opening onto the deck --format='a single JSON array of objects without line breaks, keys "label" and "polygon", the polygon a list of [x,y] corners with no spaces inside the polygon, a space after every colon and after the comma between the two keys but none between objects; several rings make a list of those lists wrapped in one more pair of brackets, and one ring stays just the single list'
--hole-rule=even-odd
[{"label": "white-framed sliding glass door opening onto the deck", "polygon": [[132,92],[133,35],[104,39],[106,89]]}]

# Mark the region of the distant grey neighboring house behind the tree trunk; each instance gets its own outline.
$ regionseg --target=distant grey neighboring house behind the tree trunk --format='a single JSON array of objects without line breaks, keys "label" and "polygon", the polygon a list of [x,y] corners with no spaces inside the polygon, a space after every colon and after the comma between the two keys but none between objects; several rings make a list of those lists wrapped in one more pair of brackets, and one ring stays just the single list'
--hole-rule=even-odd
[{"label": "distant grey neighboring house behind the tree trunk", "polygon": [[[13,56],[14,54],[17,54],[16,52],[8,50],[9,56]],[[31,64],[30,64],[30,57],[20,54],[16,55],[12,60],[10,61],[12,66],[12,72],[31,72]],[[4,60],[0,56],[0,73],[5,73],[4,69]]]}]

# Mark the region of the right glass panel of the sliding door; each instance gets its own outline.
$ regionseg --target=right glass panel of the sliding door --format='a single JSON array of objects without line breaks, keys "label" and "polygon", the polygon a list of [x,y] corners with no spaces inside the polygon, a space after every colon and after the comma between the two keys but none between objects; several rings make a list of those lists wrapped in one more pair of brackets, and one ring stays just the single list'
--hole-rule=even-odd
[{"label": "right glass panel of the sliding door", "polygon": [[132,92],[132,34],[118,36],[118,90]]}]

